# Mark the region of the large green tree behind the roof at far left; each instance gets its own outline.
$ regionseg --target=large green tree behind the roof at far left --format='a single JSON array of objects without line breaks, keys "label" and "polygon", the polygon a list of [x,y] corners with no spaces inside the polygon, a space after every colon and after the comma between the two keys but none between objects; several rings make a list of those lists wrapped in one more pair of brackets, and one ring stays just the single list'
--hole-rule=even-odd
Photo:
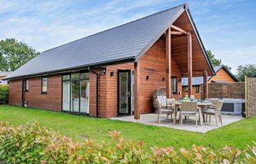
[{"label": "large green tree behind the roof at far left", "polygon": [[39,55],[34,48],[16,39],[0,41],[0,71],[15,71],[31,58]]}]

